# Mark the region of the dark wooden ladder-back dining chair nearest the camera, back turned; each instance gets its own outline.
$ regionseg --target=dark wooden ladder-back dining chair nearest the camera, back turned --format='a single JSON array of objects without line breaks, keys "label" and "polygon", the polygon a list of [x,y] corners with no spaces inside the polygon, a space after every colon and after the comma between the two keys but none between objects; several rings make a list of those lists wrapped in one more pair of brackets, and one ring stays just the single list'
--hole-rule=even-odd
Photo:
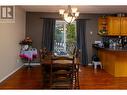
[{"label": "dark wooden ladder-back dining chair nearest the camera, back turned", "polygon": [[74,89],[74,58],[52,58],[50,71],[50,89]]}]

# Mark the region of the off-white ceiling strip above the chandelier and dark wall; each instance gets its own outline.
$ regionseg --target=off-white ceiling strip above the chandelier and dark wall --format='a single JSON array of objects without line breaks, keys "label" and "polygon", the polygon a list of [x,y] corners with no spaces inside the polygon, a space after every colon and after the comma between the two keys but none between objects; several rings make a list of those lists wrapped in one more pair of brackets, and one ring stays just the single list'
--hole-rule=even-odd
[{"label": "off-white ceiling strip above the chandelier and dark wall", "polygon": [[[36,5],[36,6],[21,6],[26,11],[30,12],[58,12],[59,9],[67,8],[67,5]],[[73,5],[72,7],[77,7],[80,13],[127,13],[127,5],[119,6],[90,6],[90,5]]]}]

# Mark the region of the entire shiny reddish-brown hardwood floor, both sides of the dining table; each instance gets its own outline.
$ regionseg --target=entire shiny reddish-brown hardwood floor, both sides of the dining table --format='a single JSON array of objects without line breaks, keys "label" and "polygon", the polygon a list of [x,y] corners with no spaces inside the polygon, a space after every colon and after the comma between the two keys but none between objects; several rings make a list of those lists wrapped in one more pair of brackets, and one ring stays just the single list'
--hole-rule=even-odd
[{"label": "entire shiny reddish-brown hardwood floor, both sides of the dining table", "polygon": [[[0,89],[43,89],[40,66],[32,69],[21,68],[0,83]],[[127,89],[127,77],[115,78],[104,70],[94,70],[91,66],[80,66],[80,89]]]}]

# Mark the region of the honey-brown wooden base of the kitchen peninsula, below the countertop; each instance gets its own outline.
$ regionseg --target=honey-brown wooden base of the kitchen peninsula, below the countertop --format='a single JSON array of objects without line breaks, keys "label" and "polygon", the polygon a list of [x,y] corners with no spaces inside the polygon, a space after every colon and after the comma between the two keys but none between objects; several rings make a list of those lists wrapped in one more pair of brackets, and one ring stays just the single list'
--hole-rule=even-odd
[{"label": "honey-brown wooden base of the kitchen peninsula, below the countertop", "polygon": [[127,51],[100,49],[98,56],[103,68],[114,77],[127,77]]}]

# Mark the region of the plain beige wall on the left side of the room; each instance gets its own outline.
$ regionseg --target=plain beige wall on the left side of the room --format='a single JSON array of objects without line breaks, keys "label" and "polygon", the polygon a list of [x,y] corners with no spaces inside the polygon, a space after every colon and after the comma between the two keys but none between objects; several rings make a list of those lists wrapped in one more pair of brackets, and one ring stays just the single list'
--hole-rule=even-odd
[{"label": "plain beige wall on the left side of the room", "polygon": [[19,42],[25,37],[25,11],[15,7],[15,23],[0,23],[0,81],[19,68]]}]

